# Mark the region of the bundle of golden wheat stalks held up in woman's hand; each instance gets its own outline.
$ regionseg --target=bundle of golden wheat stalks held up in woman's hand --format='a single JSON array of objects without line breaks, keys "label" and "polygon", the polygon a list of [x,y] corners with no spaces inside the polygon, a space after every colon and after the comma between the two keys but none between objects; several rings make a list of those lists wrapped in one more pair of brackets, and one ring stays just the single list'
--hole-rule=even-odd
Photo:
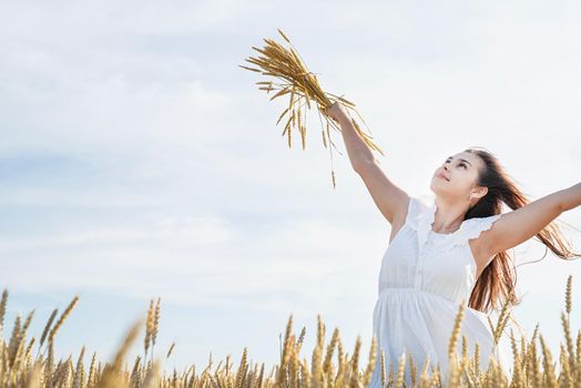
[{"label": "bundle of golden wheat stalks held up in woman's hand", "polygon": [[[275,79],[279,80],[281,82],[274,82],[274,81],[259,81],[256,82],[258,84],[259,90],[265,90],[266,93],[269,93],[271,91],[276,91],[276,93],[273,94],[271,98],[271,101],[279,98],[282,95],[289,95],[289,102],[288,108],[286,108],[283,113],[278,116],[278,120],[276,121],[276,124],[283,120],[283,118],[286,115],[286,123],[283,131],[283,136],[286,134],[288,137],[288,147],[290,147],[290,140],[292,140],[292,131],[293,129],[298,130],[300,133],[300,140],[303,143],[303,150],[305,150],[306,145],[306,111],[310,109],[312,102],[314,103],[317,113],[319,115],[320,124],[324,126],[322,130],[323,133],[323,144],[327,149],[327,139],[330,145],[337,150],[335,146],[335,143],[330,139],[330,131],[329,129],[333,126],[336,131],[340,132],[340,126],[333,120],[330,116],[328,116],[325,112],[327,108],[333,105],[335,102],[340,102],[348,112],[355,112],[357,116],[361,120],[361,122],[367,126],[363,118],[359,115],[359,112],[355,109],[355,104],[345,100],[342,96],[335,95],[333,93],[325,92],[317,80],[317,76],[307,70],[305,62],[302,60],[300,55],[294,48],[293,43],[290,43],[290,40],[286,37],[286,34],[278,29],[278,32],[283,37],[283,39],[290,45],[288,49],[283,47],[282,44],[275,42],[272,39],[264,39],[266,42],[266,45],[263,49],[258,49],[255,47],[252,47],[254,50],[258,51],[262,55],[255,58],[255,57],[248,57],[246,59],[247,62],[253,63],[257,65],[259,69],[256,68],[249,68],[245,65],[241,65],[241,68],[251,70],[254,72],[259,72],[264,75],[274,76]],[[306,109],[305,109],[306,105]],[[349,114],[350,116],[350,114]],[[323,120],[326,121],[326,125],[323,124]],[[377,146],[374,142],[370,141],[373,136],[361,131],[357,122],[351,116],[351,122],[354,127],[357,130],[361,139],[366,142],[366,144],[377,152],[379,152],[381,155],[384,155],[384,152],[379,146]],[[370,131],[369,131],[370,132]],[[338,152],[338,151],[337,151]],[[333,171],[333,152],[329,147],[330,153],[330,161],[332,161],[332,180],[333,180],[333,187],[336,187],[335,183],[335,172]],[[340,153],[339,153],[340,154]]]}]

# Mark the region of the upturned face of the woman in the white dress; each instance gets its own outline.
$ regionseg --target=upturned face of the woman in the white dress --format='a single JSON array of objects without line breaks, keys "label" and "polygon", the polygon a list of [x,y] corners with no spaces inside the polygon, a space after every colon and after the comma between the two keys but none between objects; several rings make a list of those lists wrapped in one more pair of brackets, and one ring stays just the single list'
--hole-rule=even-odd
[{"label": "upturned face of the woman in the white dress", "polygon": [[480,169],[485,169],[485,163],[478,155],[469,152],[451,155],[435,171],[430,188],[446,198],[469,202],[470,194],[475,198],[482,195],[482,192],[477,190]]}]

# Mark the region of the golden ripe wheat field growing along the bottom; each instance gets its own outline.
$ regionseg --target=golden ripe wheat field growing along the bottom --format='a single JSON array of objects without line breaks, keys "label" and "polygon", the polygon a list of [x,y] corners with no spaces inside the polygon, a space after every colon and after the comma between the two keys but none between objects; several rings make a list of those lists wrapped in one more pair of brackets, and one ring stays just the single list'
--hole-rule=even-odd
[{"label": "golden ripe wheat field growing along the bottom", "polygon": [[[386,365],[381,353],[381,381],[384,387],[407,387],[406,376],[411,377],[412,387],[444,387],[449,381],[449,387],[581,387],[581,330],[577,330],[573,340],[570,327],[572,308],[572,276],[567,280],[565,309],[561,313],[561,324],[564,339],[560,343],[560,354],[555,358],[551,355],[543,336],[539,333],[539,324],[532,337],[514,337],[510,330],[511,349],[513,356],[512,374],[504,375],[502,368],[490,359],[487,370],[479,370],[479,349],[475,347],[473,355],[467,351],[466,337],[462,336],[462,354],[457,355],[456,344],[463,317],[463,307],[459,310],[449,338],[448,355],[450,365],[448,376],[442,376],[439,366],[429,365],[426,360],[418,370],[418,365],[409,356],[404,356],[397,365]],[[140,318],[128,330],[123,343],[120,344],[113,359],[102,364],[93,353],[89,366],[84,364],[85,348],[80,349],[73,363],[72,355],[67,359],[54,359],[55,335],[62,327],[67,317],[79,302],[75,296],[59,317],[58,309],[50,315],[40,339],[28,339],[28,329],[32,321],[34,310],[22,320],[20,313],[17,315],[12,333],[8,343],[3,336],[3,320],[8,303],[8,290],[2,293],[0,303],[0,387],[191,387],[191,388],[326,388],[326,387],[366,387],[375,368],[377,351],[376,338],[367,357],[367,365],[360,363],[361,340],[357,337],[351,354],[346,353],[335,328],[330,341],[325,341],[325,325],[317,316],[316,345],[312,351],[310,360],[300,355],[306,329],[303,327],[298,337],[293,331],[293,315],[289,316],[284,344],[281,350],[281,360],[271,371],[265,371],[264,363],[248,361],[247,348],[244,348],[241,363],[233,370],[231,356],[225,363],[213,367],[212,355],[208,364],[202,369],[192,365],[182,372],[175,369],[172,374],[162,370],[175,346],[172,344],[162,355],[154,351],[161,299],[152,299],[143,318]],[[490,320],[495,339],[501,336],[507,323],[508,303],[502,306],[498,321],[493,325]],[[137,340],[142,329],[143,356],[136,356],[128,364],[126,355],[130,347]],[[88,333],[88,335],[90,335]],[[37,345],[35,345],[37,344]],[[335,351],[336,350],[336,351]],[[554,361],[553,361],[554,359]]]}]

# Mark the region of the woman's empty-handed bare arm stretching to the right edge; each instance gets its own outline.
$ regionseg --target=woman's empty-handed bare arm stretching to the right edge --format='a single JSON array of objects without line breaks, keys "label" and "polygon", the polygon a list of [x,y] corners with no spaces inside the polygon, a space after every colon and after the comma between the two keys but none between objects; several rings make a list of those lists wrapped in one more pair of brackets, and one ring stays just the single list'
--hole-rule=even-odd
[{"label": "woman's empty-handed bare arm stretching to the right edge", "polygon": [[481,234],[481,246],[489,256],[510,249],[537,235],[561,213],[580,205],[581,183],[578,183],[502,214]]}]

